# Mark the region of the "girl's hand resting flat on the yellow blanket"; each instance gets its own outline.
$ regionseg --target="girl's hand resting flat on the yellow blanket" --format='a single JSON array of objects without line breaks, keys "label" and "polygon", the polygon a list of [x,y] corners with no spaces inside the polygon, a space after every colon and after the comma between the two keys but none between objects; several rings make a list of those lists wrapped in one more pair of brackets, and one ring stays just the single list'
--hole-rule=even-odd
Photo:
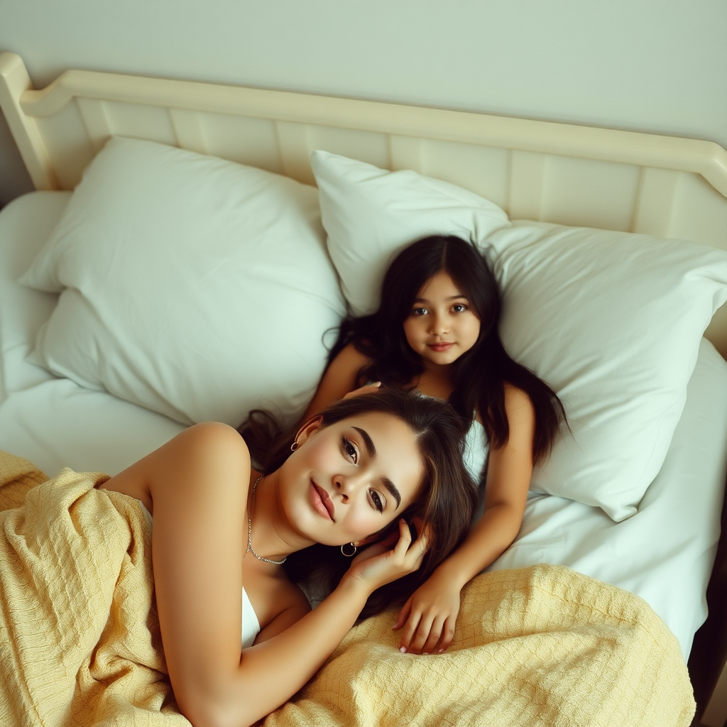
[{"label": "girl's hand resting flat on the yellow blanket", "polygon": [[438,574],[430,576],[404,603],[393,626],[403,627],[399,651],[441,654],[451,644],[459,614],[459,586]]}]

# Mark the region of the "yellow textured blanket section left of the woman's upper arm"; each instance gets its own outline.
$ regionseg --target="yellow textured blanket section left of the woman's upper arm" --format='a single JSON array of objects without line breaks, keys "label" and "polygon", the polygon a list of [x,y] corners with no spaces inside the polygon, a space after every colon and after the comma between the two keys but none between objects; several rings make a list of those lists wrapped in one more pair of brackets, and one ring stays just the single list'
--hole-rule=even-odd
[{"label": "yellow textured blanket section left of the woman's upper arm", "polygon": [[0,724],[188,727],[166,677],[138,502],[94,489],[105,475],[44,479],[0,452],[0,507],[16,507],[0,512]]}]

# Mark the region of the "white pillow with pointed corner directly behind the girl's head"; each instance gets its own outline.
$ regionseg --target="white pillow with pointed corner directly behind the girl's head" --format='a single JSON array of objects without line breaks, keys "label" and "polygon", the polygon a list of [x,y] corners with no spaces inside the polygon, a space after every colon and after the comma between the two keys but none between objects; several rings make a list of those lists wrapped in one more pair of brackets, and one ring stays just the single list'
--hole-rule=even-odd
[{"label": "white pillow with pointed corner directly behind the girl's head", "polygon": [[409,243],[430,235],[457,235],[475,244],[507,214],[497,204],[457,185],[408,170],[387,172],[364,161],[314,151],[328,249],[354,316],[379,307],[389,263]]}]

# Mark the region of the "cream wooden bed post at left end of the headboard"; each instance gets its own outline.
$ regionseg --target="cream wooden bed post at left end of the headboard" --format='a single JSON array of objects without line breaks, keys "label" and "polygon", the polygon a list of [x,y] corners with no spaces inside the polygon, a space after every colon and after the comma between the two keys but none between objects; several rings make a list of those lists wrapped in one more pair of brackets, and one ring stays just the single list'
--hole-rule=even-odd
[{"label": "cream wooden bed post at left end of the headboard", "polygon": [[20,149],[36,189],[58,189],[58,181],[36,121],[26,116],[20,97],[33,88],[25,64],[15,53],[0,55],[0,108]]}]

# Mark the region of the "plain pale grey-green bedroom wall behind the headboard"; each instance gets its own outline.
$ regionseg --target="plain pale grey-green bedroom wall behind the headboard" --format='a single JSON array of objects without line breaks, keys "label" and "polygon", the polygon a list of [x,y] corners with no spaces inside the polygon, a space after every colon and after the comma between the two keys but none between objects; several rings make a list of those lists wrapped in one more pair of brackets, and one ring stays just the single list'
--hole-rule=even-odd
[{"label": "plain pale grey-green bedroom wall behind the headboard", "polygon": [[[0,0],[0,50],[65,68],[571,121],[727,147],[723,0]],[[32,188],[0,117],[0,202]]]}]

